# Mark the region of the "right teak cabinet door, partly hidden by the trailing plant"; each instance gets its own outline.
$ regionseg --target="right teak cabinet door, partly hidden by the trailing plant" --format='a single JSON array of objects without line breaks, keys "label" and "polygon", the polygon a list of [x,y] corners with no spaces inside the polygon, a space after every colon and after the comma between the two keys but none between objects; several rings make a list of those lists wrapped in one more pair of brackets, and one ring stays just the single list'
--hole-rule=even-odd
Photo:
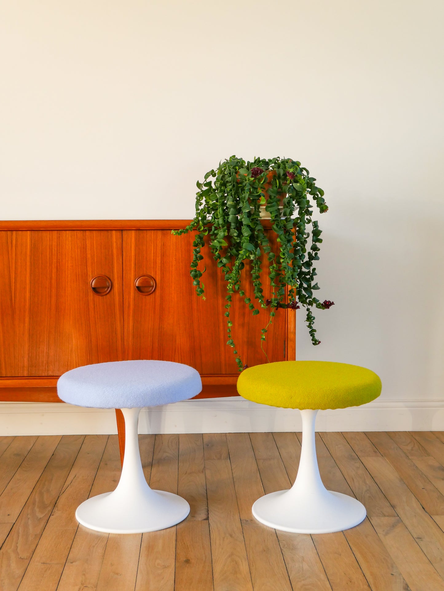
[{"label": "right teak cabinet door, partly hidden by the trailing plant", "polygon": [[[203,249],[206,300],[197,297],[189,274],[193,239],[190,234],[173,236],[170,230],[124,230],[125,359],[177,361],[203,375],[235,375],[235,355],[226,345],[225,281],[209,250]],[[267,272],[267,264],[262,266]],[[135,287],[135,280],[145,275],[155,280],[151,294],[139,293]],[[145,284],[140,289],[150,291],[149,281]],[[251,296],[252,289],[246,287],[245,293]],[[290,312],[294,319],[294,311]],[[286,313],[277,310],[268,330],[265,350],[270,361],[285,359]],[[235,294],[232,321],[232,337],[242,361],[249,366],[265,363],[260,335],[268,310],[252,316],[243,298]]]}]

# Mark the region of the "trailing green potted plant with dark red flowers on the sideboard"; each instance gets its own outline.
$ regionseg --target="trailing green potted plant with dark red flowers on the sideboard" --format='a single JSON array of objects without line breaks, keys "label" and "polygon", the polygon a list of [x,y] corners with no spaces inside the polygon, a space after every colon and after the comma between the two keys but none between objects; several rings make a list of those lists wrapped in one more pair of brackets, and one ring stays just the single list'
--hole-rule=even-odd
[{"label": "trailing green potted plant with dark red flowers on the sideboard", "polygon": [[[246,259],[251,260],[251,280],[257,305],[245,298],[253,314],[257,306],[270,308],[270,320],[261,331],[261,346],[278,308],[306,309],[306,323],[313,345],[319,345],[314,327],[313,307],[329,309],[333,302],[320,302],[313,291],[319,290],[313,283],[319,261],[319,244],[322,242],[319,225],[313,219],[313,204],[320,213],[328,210],[323,198],[324,191],[315,184],[307,168],[290,158],[255,158],[245,162],[232,156],[219,163],[216,170],[205,174],[203,183],[197,182],[196,216],[189,226],[173,230],[181,235],[196,230],[193,242],[193,260],[190,275],[197,295],[205,299],[202,275],[199,269],[205,246],[204,236],[209,234],[209,248],[226,281],[225,316],[228,324],[229,345],[236,355],[239,371],[242,360],[231,335],[230,311],[236,293],[244,297],[241,289],[241,272]],[[278,252],[273,252],[264,231],[261,219],[271,220],[271,228],[277,234]],[[307,228],[308,226],[308,228]],[[310,243],[309,243],[310,242]],[[308,244],[309,243],[309,244]],[[261,256],[267,256],[270,263],[270,298],[264,299],[261,281]],[[286,292],[288,301],[285,302]]]}]

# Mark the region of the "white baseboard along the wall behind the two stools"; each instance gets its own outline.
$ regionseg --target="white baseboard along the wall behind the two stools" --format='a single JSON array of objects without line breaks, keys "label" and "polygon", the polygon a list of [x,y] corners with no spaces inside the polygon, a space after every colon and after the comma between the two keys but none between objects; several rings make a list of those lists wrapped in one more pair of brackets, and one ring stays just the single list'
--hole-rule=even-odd
[{"label": "white baseboard along the wall behind the two stools", "polygon": [[[144,408],[140,433],[300,431],[300,413],[240,397],[206,398]],[[374,400],[319,411],[317,431],[442,431],[444,399]],[[0,402],[0,435],[117,433],[114,410],[64,403]]]}]

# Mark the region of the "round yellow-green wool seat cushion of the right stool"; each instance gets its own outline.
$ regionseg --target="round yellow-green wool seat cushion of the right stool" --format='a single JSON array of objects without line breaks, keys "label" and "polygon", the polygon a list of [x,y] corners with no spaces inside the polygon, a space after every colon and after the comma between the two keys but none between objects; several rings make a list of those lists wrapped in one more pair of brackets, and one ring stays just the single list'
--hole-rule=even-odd
[{"label": "round yellow-green wool seat cushion of the right stool", "polygon": [[346,408],[374,400],[381,380],[370,369],[331,361],[278,361],[244,369],[239,394],[283,408]]}]

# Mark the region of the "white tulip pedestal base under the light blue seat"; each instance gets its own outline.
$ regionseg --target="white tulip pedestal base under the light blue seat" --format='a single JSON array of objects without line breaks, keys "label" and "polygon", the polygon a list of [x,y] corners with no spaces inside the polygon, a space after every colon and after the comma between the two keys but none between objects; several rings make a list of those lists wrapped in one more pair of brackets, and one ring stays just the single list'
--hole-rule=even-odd
[{"label": "white tulip pedestal base under the light blue seat", "polygon": [[93,496],[77,507],[77,521],[90,530],[109,534],[164,530],[183,521],[190,512],[190,505],[181,496],[153,491],[145,480],[137,437],[140,410],[122,408],[125,456],[117,488]]}]

